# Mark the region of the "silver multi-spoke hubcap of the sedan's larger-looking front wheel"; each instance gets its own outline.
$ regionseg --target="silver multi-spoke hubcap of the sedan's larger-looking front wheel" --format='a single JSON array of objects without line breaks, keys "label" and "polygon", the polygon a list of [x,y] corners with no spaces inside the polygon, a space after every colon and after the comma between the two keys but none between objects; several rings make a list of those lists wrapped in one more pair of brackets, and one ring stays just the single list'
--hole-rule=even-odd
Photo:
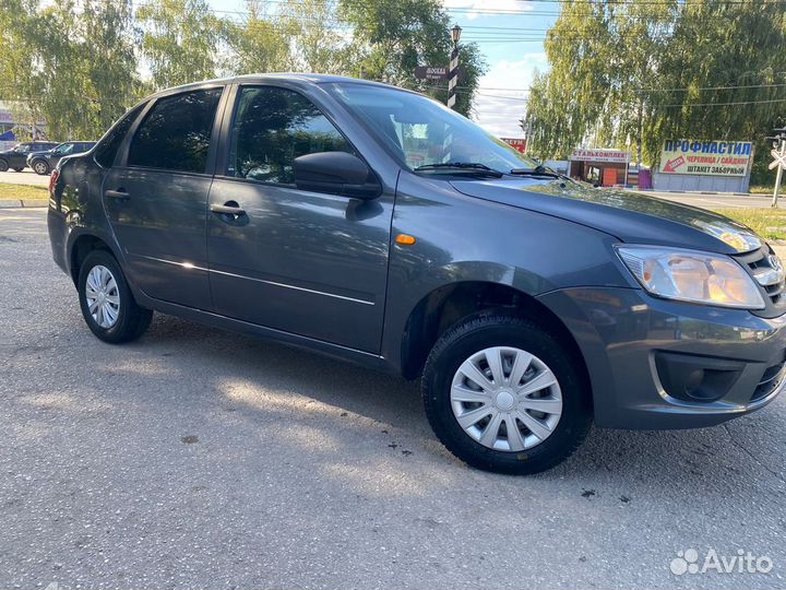
[{"label": "silver multi-spoke hubcap of the sedan's larger-looking front wheel", "polygon": [[451,406],[464,432],[485,447],[522,451],[551,436],[562,415],[562,392],[537,356],[495,346],[458,367]]}]

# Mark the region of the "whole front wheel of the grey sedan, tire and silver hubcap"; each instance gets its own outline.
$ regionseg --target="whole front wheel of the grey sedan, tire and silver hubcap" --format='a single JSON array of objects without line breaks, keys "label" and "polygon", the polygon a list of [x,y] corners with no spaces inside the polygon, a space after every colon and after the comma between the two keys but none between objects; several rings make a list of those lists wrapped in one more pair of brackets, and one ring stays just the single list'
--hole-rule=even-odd
[{"label": "whole front wheel of the grey sedan, tire and silver hubcap", "polygon": [[565,460],[591,424],[574,354],[544,327],[507,311],[451,328],[426,363],[426,415],[466,463],[516,475]]}]

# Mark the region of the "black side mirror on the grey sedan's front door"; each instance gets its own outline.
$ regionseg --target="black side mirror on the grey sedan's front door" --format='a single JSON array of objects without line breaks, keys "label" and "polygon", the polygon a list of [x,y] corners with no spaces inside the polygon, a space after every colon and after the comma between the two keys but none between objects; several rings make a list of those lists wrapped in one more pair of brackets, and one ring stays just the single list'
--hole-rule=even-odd
[{"label": "black side mirror on the grey sedan's front door", "polygon": [[354,199],[376,199],[382,187],[371,168],[346,152],[318,152],[293,161],[295,186],[301,190],[329,192]]}]

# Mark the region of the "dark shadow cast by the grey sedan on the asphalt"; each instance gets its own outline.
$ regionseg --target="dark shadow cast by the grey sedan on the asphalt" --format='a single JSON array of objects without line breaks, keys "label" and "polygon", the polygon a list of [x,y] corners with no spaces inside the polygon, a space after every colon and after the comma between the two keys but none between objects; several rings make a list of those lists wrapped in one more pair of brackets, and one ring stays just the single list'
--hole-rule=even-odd
[{"label": "dark shadow cast by the grey sedan on the asphalt", "polygon": [[[132,346],[147,352],[157,349],[155,353],[164,357],[166,365],[180,371],[209,358],[213,390],[246,411],[272,411],[275,404],[271,405],[270,399],[262,404],[254,402],[260,391],[281,396],[278,403],[287,405],[288,415],[299,410],[283,400],[287,396],[305,397],[335,410],[338,416],[362,416],[377,425],[377,432],[386,433],[388,425],[395,427],[413,439],[409,445],[419,445],[421,452],[457,463],[431,434],[417,381],[162,315],[156,315],[148,333]],[[258,390],[249,392],[249,387]],[[581,480],[600,473],[610,480],[633,479],[660,486],[686,477],[745,481],[746,473],[759,472],[783,481],[782,463],[772,455],[758,452],[760,448],[782,445],[781,415],[765,409],[726,426],[692,430],[593,428],[571,459],[537,477]]]}]

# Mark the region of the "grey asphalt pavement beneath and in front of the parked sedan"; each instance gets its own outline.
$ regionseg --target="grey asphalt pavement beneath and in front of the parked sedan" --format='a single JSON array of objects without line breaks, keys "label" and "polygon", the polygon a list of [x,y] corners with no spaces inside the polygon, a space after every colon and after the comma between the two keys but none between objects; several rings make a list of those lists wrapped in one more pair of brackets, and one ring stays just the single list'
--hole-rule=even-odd
[{"label": "grey asphalt pavement beneath and in front of the parked sedan", "polygon": [[[100,343],[43,210],[0,211],[0,588],[786,587],[786,398],[510,477],[413,384],[164,316]],[[773,569],[675,576],[689,548]]]}]

